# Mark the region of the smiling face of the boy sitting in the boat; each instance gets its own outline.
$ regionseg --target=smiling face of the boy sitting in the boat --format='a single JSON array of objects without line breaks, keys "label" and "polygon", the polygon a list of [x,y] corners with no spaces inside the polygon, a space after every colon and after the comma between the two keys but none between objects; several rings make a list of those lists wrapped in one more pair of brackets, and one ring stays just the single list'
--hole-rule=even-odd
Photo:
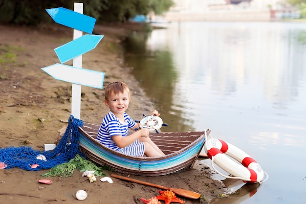
[{"label": "smiling face of the boy sitting in the boat", "polygon": [[123,115],[123,113],[128,109],[130,101],[131,98],[129,92],[124,90],[123,93],[118,94],[112,92],[109,95],[109,100],[104,100],[104,103],[109,107],[112,113],[118,116]]}]

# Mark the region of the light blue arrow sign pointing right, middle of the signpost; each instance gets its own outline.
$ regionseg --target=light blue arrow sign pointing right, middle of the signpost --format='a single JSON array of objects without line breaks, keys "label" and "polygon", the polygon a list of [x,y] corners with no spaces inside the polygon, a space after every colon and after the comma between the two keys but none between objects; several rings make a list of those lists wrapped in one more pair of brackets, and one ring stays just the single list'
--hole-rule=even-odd
[{"label": "light blue arrow sign pointing right, middle of the signpost", "polygon": [[103,37],[104,35],[83,35],[74,41],[55,48],[54,50],[60,62],[63,64],[95,48]]}]

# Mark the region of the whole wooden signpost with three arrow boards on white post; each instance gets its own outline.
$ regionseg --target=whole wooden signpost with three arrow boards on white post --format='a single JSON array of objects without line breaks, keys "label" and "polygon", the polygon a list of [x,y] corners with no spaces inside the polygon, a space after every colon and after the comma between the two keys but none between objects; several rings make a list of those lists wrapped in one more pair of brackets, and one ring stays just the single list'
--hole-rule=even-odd
[{"label": "whole wooden signpost with three arrow boards on white post", "polygon": [[71,114],[80,119],[81,85],[102,89],[105,73],[82,68],[82,54],[92,50],[102,40],[103,35],[84,35],[92,33],[96,19],[83,14],[83,3],[74,3],[74,11],[66,8],[46,9],[51,18],[59,24],[73,28],[73,41],[55,48],[63,64],[73,59],[73,65],[54,64],[42,68],[57,80],[72,83]]}]

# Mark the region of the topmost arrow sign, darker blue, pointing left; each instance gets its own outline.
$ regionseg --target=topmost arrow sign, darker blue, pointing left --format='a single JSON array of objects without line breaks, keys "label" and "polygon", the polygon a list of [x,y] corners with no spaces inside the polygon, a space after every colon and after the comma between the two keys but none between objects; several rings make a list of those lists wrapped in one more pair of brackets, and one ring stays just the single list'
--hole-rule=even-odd
[{"label": "topmost arrow sign, darker blue, pointing left", "polygon": [[59,24],[92,33],[96,19],[69,9],[59,7],[46,9],[51,18]]}]

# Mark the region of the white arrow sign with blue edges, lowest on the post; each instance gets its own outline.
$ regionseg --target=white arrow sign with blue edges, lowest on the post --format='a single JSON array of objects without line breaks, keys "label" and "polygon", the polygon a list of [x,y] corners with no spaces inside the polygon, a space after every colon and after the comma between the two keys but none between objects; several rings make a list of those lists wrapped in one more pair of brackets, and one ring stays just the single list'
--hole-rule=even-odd
[{"label": "white arrow sign with blue edges, lowest on the post", "polygon": [[103,88],[104,72],[76,68],[59,63],[42,69],[57,80],[98,89]]}]

